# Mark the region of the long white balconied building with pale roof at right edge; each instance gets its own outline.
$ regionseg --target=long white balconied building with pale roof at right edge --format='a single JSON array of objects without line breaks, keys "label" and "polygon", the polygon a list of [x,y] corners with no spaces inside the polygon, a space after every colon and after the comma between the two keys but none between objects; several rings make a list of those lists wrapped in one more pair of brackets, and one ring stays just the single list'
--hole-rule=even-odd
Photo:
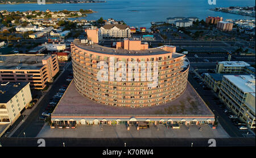
[{"label": "long white balconied building with pale roof at right edge", "polygon": [[255,128],[255,76],[223,76],[218,96],[248,127]]}]

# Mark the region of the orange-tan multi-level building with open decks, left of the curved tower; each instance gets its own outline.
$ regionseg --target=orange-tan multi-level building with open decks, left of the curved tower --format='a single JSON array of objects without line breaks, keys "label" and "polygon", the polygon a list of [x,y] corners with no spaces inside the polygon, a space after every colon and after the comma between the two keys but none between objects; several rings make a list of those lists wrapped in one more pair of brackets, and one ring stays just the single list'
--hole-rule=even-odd
[{"label": "orange-tan multi-level building with open decks, left of the curved tower", "polygon": [[33,89],[44,89],[59,72],[57,55],[1,55],[0,81],[30,82]]}]

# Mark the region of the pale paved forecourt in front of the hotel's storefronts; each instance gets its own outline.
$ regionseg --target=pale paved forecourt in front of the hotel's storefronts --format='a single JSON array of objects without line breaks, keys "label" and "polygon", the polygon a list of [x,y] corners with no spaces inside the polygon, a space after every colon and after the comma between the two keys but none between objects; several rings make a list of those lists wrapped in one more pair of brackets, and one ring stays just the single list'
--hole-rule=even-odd
[{"label": "pale paved forecourt in front of the hotel's storefronts", "polygon": [[[200,130],[201,129],[201,130]],[[209,125],[180,125],[179,129],[172,129],[165,124],[150,125],[149,128],[137,130],[136,125],[130,125],[127,130],[125,124],[91,125],[72,128],[50,128],[45,124],[39,138],[229,138],[221,126],[212,129]]]}]

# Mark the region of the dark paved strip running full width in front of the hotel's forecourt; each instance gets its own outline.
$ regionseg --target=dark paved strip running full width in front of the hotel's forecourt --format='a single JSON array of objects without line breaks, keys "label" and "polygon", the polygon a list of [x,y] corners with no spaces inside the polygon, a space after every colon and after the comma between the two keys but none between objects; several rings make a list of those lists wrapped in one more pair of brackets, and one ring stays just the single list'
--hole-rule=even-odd
[{"label": "dark paved strip running full width in front of the hotel's forecourt", "polygon": [[[2,147],[37,147],[40,138],[1,138]],[[212,138],[43,138],[46,147],[209,147]],[[215,138],[216,147],[255,146],[255,138]]]}]

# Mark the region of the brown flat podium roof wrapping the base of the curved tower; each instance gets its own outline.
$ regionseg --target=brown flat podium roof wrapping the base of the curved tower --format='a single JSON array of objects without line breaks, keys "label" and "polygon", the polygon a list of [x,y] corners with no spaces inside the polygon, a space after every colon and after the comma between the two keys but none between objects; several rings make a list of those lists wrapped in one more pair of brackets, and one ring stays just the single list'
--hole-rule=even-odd
[{"label": "brown flat podium roof wrapping the base of the curved tower", "polygon": [[52,113],[52,117],[63,115],[210,115],[214,117],[189,82],[185,92],[174,101],[159,106],[130,108],[92,101],[78,93],[72,81]]}]

